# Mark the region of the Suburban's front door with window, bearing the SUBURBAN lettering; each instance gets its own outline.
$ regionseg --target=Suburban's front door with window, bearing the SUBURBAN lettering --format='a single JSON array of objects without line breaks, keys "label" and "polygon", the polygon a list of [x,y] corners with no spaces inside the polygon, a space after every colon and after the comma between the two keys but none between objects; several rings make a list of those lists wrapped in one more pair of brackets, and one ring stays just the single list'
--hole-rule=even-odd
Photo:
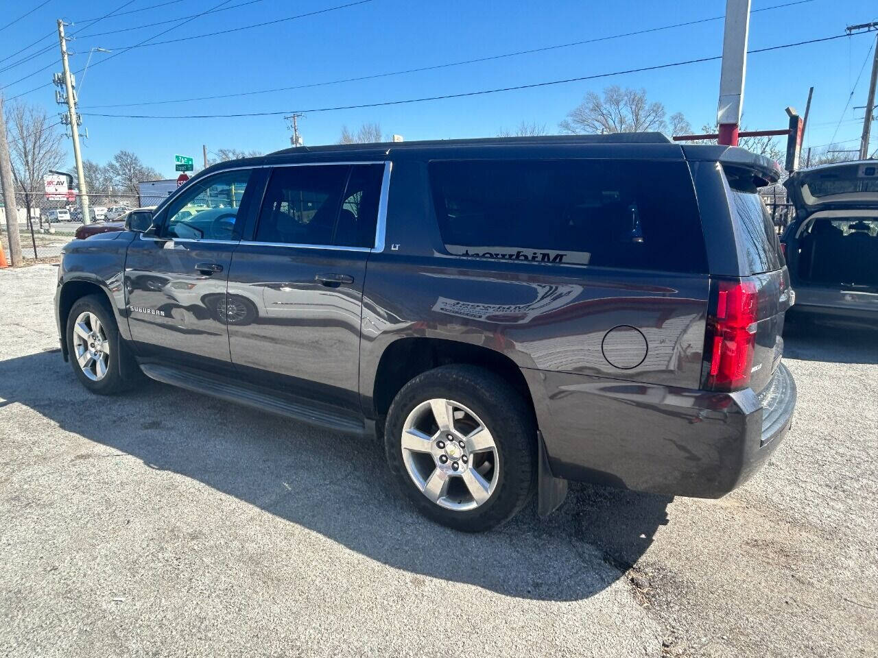
[{"label": "Suburban's front door with window, bearing the SUBURBAN lettering", "polygon": [[234,169],[191,182],[128,247],[128,326],[140,356],[228,367],[226,287],[255,195],[250,175]]}]

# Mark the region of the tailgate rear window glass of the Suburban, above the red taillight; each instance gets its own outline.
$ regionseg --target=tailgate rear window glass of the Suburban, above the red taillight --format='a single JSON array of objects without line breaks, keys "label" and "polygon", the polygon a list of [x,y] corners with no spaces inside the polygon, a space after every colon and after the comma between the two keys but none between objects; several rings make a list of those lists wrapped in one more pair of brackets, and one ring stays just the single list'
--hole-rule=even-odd
[{"label": "tailgate rear window glass of the Suburban, above the red taillight", "polygon": [[774,222],[759,197],[750,172],[725,169],[729,182],[729,205],[735,234],[745,256],[749,274],[774,272],[784,266]]}]

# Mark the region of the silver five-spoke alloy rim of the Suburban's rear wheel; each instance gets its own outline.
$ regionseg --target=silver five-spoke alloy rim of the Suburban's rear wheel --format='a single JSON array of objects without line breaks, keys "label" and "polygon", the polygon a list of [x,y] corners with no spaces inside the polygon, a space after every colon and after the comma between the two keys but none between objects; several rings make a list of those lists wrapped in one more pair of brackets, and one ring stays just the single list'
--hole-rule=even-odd
[{"label": "silver five-spoke alloy rim of the Suburban's rear wheel", "polygon": [[418,404],[408,414],[402,461],[421,493],[449,510],[484,504],[500,475],[491,432],[463,404],[443,398]]}]

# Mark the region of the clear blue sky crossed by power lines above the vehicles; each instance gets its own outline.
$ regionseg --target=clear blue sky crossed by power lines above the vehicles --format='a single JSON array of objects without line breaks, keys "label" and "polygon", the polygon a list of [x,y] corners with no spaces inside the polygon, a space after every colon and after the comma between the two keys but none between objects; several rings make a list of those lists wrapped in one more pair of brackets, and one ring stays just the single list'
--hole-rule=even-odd
[{"label": "clear blue sky crossed by power lines above the vehicles", "polygon": [[[245,0],[231,0],[241,4]],[[308,11],[324,10],[353,0],[263,0],[229,11],[192,20],[156,40],[175,39],[227,30]],[[753,0],[758,10],[789,0]],[[14,10],[2,12],[0,25],[40,4],[24,0]],[[68,3],[50,0],[45,6],[0,32],[0,59],[52,32],[56,18],[79,23],[69,32],[82,35],[155,23],[205,11],[220,0],[172,2],[148,11],[105,18],[83,27],[83,19],[102,16],[126,0]],[[132,11],[168,0],[134,0],[121,11]],[[5,4],[5,3],[4,3]],[[9,4],[6,4],[8,7]],[[340,78],[381,74],[406,68],[429,67],[582,39],[632,32],[677,22],[720,16],[721,0],[615,0],[613,3],[500,2],[498,0],[371,0],[337,11],[193,39],[176,44],[133,49],[96,65],[108,55],[96,53],[80,92],[80,111],[119,114],[222,114],[287,111],[369,104],[386,100],[454,94],[478,89],[529,84],[582,75],[594,75],[657,63],[721,54],[723,22],[674,28],[604,42],[528,54],[406,75],[325,85],[248,97],[97,109],[106,104],[142,103],[186,97],[203,97]],[[846,25],[878,20],[874,0],[813,0],[752,15],[750,47],[776,46],[817,39],[844,32]],[[92,46],[119,53],[168,29],[156,25],[143,29],[87,38],[70,44],[71,67],[83,68]],[[784,108],[804,111],[808,87],[814,100],[806,146],[831,140],[843,147],[857,147],[862,110],[842,111],[853,81],[874,43],[872,36],[800,46],[748,58],[743,123],[751,128],[783,128]],[[57,39],[48,39],[0,62],[0,68],[38,50],[54,45],[46,54],[0,72],[0,85],[58,61]],[[869,65],[851,105],[865,104]],[[696,128],[716,118],[719,61],[667,68],[586,82],[571,82],[418,104],[390,105],[343,111],[310,112],[300,124],[306,144],[333,143],[342,125],[356,128],[378,122],[383,132],[397,132],[406,139],[442,139],[494,136],[522,120],[558,130],[558,122],[579,104],[588,90],[609,84],[643,87],[651,100],[665,104],[668,113],[682,111]],[[60,63],[23,82],[4,89],[7,98],[48,82]],[[49,86],[22,97],[56,113],[54,88]],[[174,175],[174,154],[192,155],[198,162],[201,145],[209,150],[233,147],[264,152],[289,146],[290,132],[282,117],[144,119],[85,117],[89,139],[83,154],[106,161],[113,153],[132,150],[164,175]],[[850,140],[850,141],[846,141]],[[875,135],[872,148],[878,147]],[[70,158],[72,161],[72,156]]]}]

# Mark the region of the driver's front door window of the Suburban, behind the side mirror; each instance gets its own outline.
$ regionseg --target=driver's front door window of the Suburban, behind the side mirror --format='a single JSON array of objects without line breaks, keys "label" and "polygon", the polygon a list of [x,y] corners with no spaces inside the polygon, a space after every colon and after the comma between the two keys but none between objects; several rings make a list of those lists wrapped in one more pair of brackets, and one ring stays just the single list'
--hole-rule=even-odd
[{"label": "driver's front door window of the Suburban, behind the side mirror", "polygon": [[235,169],[192,182],[169,205],[162,237],[233,240],[234,223],[250,169]]}]

